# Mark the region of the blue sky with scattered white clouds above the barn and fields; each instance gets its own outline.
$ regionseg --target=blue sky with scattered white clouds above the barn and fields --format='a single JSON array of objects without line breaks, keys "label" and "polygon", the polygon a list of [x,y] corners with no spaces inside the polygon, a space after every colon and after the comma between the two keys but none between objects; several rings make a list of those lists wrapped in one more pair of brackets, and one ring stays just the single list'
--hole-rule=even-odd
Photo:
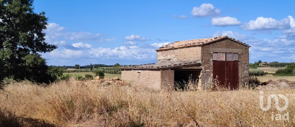
[{"label": "blue sky with scattered white clouds above the barn and fields", "polygon": [[160,46],[227,35],[247,43],[250,62],[295,59],[294,1],[41,1],[49,18],[48,65],[156,62]]}]

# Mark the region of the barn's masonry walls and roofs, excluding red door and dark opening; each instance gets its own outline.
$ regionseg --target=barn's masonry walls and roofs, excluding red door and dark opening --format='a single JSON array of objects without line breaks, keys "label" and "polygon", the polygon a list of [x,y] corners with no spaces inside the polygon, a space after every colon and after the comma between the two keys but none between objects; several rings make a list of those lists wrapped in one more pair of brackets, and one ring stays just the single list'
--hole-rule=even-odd
[{"label": "barn's masonry walls and roofs, excluding red door and dark opening", "polygon": [[200,70],[198,88],[202,89],[213,80],[213,53],[236,53],[239,86],[249,80],[249,46],[227,36],[179,41],[156,51],[157,64],[123,67],[122,79],[153,89],[173,89],[175,69]]}]

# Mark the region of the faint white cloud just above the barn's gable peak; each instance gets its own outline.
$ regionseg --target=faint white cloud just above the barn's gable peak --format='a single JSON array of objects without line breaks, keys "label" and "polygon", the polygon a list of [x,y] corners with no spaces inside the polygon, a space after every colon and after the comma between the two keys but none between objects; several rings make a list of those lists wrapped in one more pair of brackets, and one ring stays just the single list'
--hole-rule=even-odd
[{"label": "faint white cloud just above the barn's gable peak", "polygon": [[213,34],[212,37],[217,37],[217,36],[228,36],[236,40],[249,39],[249,37],[246,34],[240,34],[238,32],[232,32],[232,31],[222,31],[222,32],[217,31]]}]

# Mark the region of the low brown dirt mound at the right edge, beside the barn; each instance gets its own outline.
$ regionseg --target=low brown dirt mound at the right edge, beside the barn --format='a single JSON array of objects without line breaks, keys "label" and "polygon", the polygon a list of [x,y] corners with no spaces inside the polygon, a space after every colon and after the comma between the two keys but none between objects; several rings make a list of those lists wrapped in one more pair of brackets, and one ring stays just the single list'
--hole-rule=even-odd
[{"label": "low brown dirt mound at the right edge, beside the barn", "polygon": [[261,83],[256,89],[258,90],[275,90],[275,89],[295,89],[295,82],[285,79],[277,81],[268,80]]}]

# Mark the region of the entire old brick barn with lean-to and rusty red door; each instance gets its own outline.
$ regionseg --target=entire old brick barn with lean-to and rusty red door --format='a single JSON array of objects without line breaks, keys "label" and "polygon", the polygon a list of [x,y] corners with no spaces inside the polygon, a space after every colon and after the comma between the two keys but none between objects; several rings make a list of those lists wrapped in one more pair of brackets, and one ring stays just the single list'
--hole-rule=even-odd
[{"label": "entire old brick barn with lean-to and rusty red door", "polygon": [[156,50],[157,63],[122,66],[122,80],[159,90],[174,89],[188,77],[198,82],[198,89],[218,79],[237,89],[249,81],[249,47],[228,36],[175,41]]}]

